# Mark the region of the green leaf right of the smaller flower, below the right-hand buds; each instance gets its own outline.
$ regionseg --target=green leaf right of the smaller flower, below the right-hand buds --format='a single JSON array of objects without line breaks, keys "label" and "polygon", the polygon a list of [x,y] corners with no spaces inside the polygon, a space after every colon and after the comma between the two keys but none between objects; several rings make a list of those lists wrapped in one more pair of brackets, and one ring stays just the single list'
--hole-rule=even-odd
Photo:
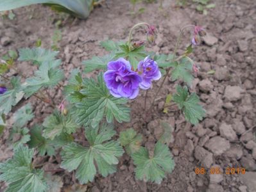
[{"label": "green leaf right of the smaller flower, below the right-hand buds", "polygon": [[171,72],[171,77],[173,81],[177,79],[182,79],[189,86],[192,84],[192,80],[194,77],[191,74],[192,72],[192,62],[189,58],[185,57],[180,60],[180,62],[176,62],[176,65],[173,67]]}]

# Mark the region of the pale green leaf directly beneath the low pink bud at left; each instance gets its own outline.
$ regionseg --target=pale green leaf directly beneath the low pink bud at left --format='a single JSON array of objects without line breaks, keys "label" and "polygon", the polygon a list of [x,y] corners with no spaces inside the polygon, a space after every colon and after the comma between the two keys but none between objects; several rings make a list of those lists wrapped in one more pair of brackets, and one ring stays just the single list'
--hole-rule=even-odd
[{"label": "pale green leaf directly beneath the low pink bud at left", "polygon": [[69,113],[62,115],[57,110],[53,111],[52,115],[47,116],[42,125],[45,127],[43,136],[51,140],[62,133],[71,134],[76,132],[76,129],[79,128]]}]

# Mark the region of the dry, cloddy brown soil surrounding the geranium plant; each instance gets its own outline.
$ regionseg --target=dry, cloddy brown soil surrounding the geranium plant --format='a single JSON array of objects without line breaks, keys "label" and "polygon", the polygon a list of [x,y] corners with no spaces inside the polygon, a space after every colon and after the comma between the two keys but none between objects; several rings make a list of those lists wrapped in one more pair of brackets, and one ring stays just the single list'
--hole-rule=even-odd
[{"label": "dry, cloddy brown soil surrounding the geranium plant", "polygon": [[[126,154],[120,159],[117,173],[103,178],[97,175],[94,182],[81,188],[81,191],[256,191],[256,1],[254,0],[216,0],[216,8],[207,16],[196,12],[194,4],[176,8],[175,1],[164,1],[164,11],[158,4],[140,4],[146,11],[137,17],[130,15],[129,1],[109,0],[108,7],[103,4],[96,8],[87,20],[68,19],[62,30],[59,58],[66,77],[73,68],[83,68],[81,61],[106,52],[99,47],[101,40],[126,40],[128,30],[137,22],[145,21],[158,27],[156,45],[149,47],[158,53],[173,51],[178,29],[186,24],[198,24],[207,29],[208,36],[195,48],[192,56],[200,66],[200,72],[193,81],[191,92],[200,95],[201,104],[207,116],[200,124],[192,126],[185,122],[176,108],[163,113],[167,93],[175,92],[171,80],[157,98],[154,113],[143,120],[144,92],[137,100],[130,102],[132,122],[117,124],[117,132],[133,127],[144,136],[143,145],[149,146],[157,141],[162,132],[159,122],[165,120],[175,129],[174,141],[169,148],[176,162],[173,173],[167,175],[162,184],[144,183],[135,180],[132,159]],[[0,55],[9,49],[33,47],[38,38],[42,47],[50,48],[51,36],[58,15],[44,6],[30,6],[14,10],[15,20],[0,20]],[[32,17],[31,17],[32,15]],[[136,38],[143,38],[138,32]],[[190,35],[185,33],[181,53],[189,43]],[[19,63],[19,70],[31,76],[35,68],[28,63]],[[215,74],[207,74],[215,70]],[[9,75],[14,74],[11,71]],[[96,72],[87,76],[94,77]],[[155,83],[148,95],[152,99],[160,82]],[[51,97],[58,104],[62,100],[60,90],[51,90]],[[31,122],[42,123],[52,112],[49,106],[31,98],[35,116]],[[11,115],[10,115],[11,116]],[[12,119],[8,120],[11,124]],[[12,157],[12,146],[8,144],[10,127],[0,138],[0,161]],[[49,168],[58,168],[61,158],[37,157],[38,163],[46,163]],[[219,168],[224,173],[211,175],[210,168]],[[204,175],[194,172],[195,168],[205,168]],[[245,168],[246,173],[226,174],[227,168]],[[61,172],[64,182],[63,191],[77,182],[73,173]],[[2,183],[0,191],[5,185]],[[70,189],[70,188],[69,188]]]}]

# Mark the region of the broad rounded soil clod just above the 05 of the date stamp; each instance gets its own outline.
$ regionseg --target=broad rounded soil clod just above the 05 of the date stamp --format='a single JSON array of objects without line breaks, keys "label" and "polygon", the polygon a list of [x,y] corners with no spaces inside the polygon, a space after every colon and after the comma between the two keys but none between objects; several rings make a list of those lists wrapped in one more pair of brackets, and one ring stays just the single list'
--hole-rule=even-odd
[{"label": "broad rounded soil clod just above the 05 of the date stamp", "polygon": [[214,138],[210,138],[210,140],[205,144],[205,147],[219,156],[230,148],[230,143],[225,138],[215,136]]}]

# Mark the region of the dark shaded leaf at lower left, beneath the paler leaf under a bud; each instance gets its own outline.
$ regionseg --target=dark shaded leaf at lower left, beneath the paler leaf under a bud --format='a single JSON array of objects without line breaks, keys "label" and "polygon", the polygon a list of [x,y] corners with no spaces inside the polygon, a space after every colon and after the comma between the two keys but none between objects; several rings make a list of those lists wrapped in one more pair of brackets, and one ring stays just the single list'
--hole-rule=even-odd
[{"label": "dark shaded leaf at lower left, beneath the paler leaf under a bud", "polygon": [[31,140],[28,142],[30,148],[37,148],[40,156],[44,156],[46,153],[48,156],[53,156],[55,149],[73,141],[73,137],[69,134],[61,134],[55,140],[46,139],[42,136],[42,129],[41,125],[34,125],[30,131]]}]

